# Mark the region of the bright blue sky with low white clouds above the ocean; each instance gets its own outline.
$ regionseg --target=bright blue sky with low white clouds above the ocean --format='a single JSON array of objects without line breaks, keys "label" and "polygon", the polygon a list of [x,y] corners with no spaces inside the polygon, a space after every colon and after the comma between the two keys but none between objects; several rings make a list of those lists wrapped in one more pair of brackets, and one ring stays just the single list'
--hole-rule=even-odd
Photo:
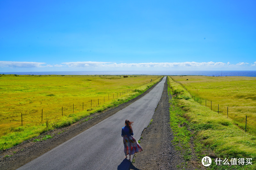
[{"label": "bright blue sky with low white clouds above the ocean", "polygon": [[256,70],[256,1],[0,1],[0,71]]}]

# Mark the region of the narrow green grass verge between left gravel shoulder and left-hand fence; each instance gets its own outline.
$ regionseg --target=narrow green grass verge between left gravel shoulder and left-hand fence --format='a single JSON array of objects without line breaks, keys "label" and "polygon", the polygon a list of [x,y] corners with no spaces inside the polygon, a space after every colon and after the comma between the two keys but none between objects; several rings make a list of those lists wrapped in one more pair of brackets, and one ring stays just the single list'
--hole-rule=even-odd
[{"label": "narrow green grass verge between left gravel shoulder and left-hand fence", "polygon": [[58,127],[68,126],[93,113],[100,113],[108,108],[117,107],[118,105],[139,96],[148,88],[156,84],[159,80],[160,78],[158,78],[156,81],[152,83],[145,83],[144,85],[140,86],[138,85],[135,90],[132,90],[129,93],[126,93],[122,96],[120,93],[120,97],[115,98],[109,103],[106,102],[96,107],[85,109],[84,111],[78,111],[75,114],[65,115],[63,117],[60,117],[58,120],[54,117],[52,119],[46,118],[46,120],[44,120],[44,122],[40,124],[33,125],[32,123],[30,123],[26,124],[26,126],[11,127],[9,128],[9,133],[0,137],[0,150],[7,149],[17,144],[20,144],[21,142],[36,137],[45,131],[55,129]]}]

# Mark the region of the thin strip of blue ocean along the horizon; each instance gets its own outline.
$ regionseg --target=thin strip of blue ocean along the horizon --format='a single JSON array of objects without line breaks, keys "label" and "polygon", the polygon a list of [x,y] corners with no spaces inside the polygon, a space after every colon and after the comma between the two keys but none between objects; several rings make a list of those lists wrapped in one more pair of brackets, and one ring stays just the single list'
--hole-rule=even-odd
[{"label": "thin strip of blue ocean along the horizon", "polygon": [[200,76],[247,76],[256,77],[256,71],[44,71],[0,72],[17,75],[200,75]]}]

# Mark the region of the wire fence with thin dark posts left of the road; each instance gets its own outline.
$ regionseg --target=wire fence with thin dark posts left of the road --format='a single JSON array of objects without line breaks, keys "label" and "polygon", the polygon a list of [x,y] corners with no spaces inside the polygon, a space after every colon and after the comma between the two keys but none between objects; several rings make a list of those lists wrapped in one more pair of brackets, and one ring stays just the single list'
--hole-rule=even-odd
[{"label": "wire fence with thin dark posts left of the road", "polygon": [[[15,113],[12,114],[12,118],[7,119],[3,118],[1,120],[0,124],[0,131],[2,134],[1,136],[6,133],[6,131],[9,129],[10,131],[16,131],[14,128],[24,125],[49,125],[49,122],[51,122],[52,125],[58,123],[61,121],[63,116],[73,117],[77,113],[81,111],[92,111],[92,112],[101,112],[103,111],[103,105],[105,103],[111,104],[114,100],[121,100],[121,97],[125,94],[129,94],[131,92],[136,92],[138,89],[143,86],[147,85],[151,82],[154,82],[159,77],[155,79],[151,79],[150,81],[144,82],[140,85],[135,85],[133,87],[125,88],[122,91],[115,92],[115,93],[109,93],[106,96],[99,96],[99,97],[92,97],[91,99],[82,100],[75,100],[70,101],[69,104],[61,105],[61,102],[58,104],[55,104],[54,107],[52,105],[49,105],[43,108],[33,108],[32,110],[22,110],[20,108],[14,108]],[[7,109],[7,108],[6,108]],[[1,111],[4,112],[4,107],[1,108]],[[74,120],[77,121],[77,120]]]}]

